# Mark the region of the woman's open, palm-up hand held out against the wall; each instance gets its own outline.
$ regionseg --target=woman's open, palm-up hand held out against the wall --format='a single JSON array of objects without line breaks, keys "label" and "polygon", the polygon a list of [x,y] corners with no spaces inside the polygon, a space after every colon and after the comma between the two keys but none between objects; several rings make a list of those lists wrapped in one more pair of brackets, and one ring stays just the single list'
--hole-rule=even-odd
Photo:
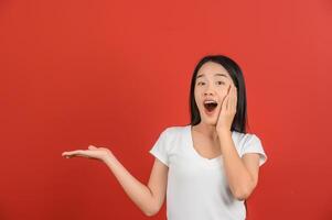
[{"label": "woman's open, palm-up hand held out against the wall", "polygon": [[109,148],[106,148],[106,147],[96,147],[94,145],[89,145],[87,148],[88,150],[76,150],[76,151],[63,152],[62,156],[64,156],[66,158],[72,158],[74,156],[83,156],[83,157],[99,160],[99,161],[105,162],[107,157],[113,155],[113,153],[109,151]]}]

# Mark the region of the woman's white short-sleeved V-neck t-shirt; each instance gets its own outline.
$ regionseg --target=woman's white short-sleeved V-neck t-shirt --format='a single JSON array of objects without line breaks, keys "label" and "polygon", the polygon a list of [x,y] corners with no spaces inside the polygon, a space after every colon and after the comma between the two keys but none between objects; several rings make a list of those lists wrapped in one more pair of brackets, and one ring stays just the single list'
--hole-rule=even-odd
[{"label": "woman's white short-sleeved V-neck t-shirt", "polygon": [[[168,220],[243,220],[244,201],[233,197],[223,167],[223,155],[201,156],[193,147],[192,125],[170,127],[161,132],[150,153],[169,167],[167,187]],[[266,161],[255,134],[233,131],[232,139],[242,157],[259,153],[259,166]]]}]

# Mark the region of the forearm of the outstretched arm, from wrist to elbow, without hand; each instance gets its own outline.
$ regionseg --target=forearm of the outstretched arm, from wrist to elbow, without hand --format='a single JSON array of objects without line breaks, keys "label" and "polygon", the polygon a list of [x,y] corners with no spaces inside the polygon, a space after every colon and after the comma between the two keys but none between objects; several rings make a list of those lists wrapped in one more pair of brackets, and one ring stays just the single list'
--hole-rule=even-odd
[{"label": "forearm of the outstretched arm, from wrist to elbow, without hand", "polygon": [[149,187],[136,179],[114,156],[108,156],[105,164],[113,172],[129,198],[147,215],[154,212],[154,202]]}]

